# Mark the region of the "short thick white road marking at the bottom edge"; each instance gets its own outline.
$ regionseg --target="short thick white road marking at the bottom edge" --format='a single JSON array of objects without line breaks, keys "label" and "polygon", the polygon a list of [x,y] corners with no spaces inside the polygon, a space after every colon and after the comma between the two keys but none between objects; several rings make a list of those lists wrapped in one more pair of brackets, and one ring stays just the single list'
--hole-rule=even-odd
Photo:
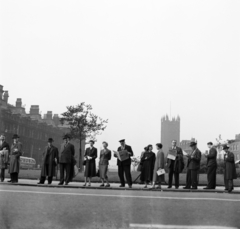
[{"label": "short thick white road marking at the bottom edge", "polygon": [[137,228],[159,228],[159,229],[237,229],[237,227],[222,226],[186,226],[186,225],[163,225],[163,224],[130,224],[130,227]]}]

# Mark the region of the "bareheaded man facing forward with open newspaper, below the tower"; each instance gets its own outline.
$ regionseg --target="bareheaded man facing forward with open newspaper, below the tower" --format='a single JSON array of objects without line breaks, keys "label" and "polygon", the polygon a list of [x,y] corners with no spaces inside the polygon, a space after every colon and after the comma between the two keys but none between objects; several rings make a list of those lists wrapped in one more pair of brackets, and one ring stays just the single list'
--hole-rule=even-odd
[{"label": "bareheaded man facing forward with open newspaper, below the tower", "polygon": [[175,181],[175,188],[178,189],[179,187],[179,173],[182,172],[184,168],[183,162],[183,152],[180,147],[177,147],[177,141],[172,141],[172,151],[176,152],[175,160],[167,159],[167,166],[168,166],[168,188],[172,188],[172,178],[174,175]]}]

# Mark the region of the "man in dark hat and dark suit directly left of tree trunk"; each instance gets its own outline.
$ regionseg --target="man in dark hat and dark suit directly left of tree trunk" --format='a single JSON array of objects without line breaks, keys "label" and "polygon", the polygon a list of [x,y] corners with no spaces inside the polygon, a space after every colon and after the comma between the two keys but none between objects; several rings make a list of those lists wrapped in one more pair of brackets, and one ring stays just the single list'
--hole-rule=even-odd
[{"label": "man in dark hat and dark suit directly left of tree trunk", "polygon": [[71,167],[73,165],[75,154],[74,145],[70,143],[70,136],[68,134],[64,135],[63,140],[64,143],[61,145],[59,156],[60,183],[58,185],[63,185],[64,181],[65,185],[68,185],[68,183],[71,181]]}]

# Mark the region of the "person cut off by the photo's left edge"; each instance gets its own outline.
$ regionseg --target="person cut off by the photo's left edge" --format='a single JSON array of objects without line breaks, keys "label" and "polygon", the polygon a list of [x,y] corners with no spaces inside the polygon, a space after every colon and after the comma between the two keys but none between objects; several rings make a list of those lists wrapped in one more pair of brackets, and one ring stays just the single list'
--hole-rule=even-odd
[{"label": "person cut off by the photo's left edge", "polygon": [[4,134],[0,135],[0,178],[1,182],[5,179],[5,169],[7,169],[10,147],[6,142]]}]

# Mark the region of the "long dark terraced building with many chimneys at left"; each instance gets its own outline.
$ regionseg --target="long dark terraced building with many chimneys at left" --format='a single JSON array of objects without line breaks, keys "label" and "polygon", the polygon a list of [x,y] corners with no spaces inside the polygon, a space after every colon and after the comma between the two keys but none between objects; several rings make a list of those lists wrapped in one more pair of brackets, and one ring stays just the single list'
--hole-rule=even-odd
[{"label": "long dark terraced building with many chimneys at left", "polygon": [[[29,114],[22,106],[22,99],[18,98],[15,106],[8,104],[8,91],[3,90],[0,85],[0,134],[4,133],[7,141],[11,144],[12,135],[18,134],[23,143],[24,156],[33,157],[37,165],[41,164],[42,152],[47,145],[47,139],[53,138],[54,145],[60,150],[62,137],[69,131],[68,126],[59,123],[57,114],[52,115],[48,111],[42,118],[38,105],[32,105]],[[74,140],[75,158],[79,158],[79,141]],[[85,149],[85,141],[82,142],[82,152]]]}]

